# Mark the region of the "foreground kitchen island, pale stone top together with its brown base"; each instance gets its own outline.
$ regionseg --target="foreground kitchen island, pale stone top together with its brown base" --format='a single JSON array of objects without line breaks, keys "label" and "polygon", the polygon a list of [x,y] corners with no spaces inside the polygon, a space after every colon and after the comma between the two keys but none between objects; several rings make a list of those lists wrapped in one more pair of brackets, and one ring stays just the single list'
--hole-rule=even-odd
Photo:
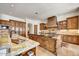
[{"label": "foreground kitchen island, pale stone top together with its brown base", "polygon": [[36,41],[33,41],[29,38],[18,36],[18,39],[24,40],[20,43],[11,43],[10,53],[7,55],[10,56],[34,56],[36,55],[36,47],[40,44]]}]

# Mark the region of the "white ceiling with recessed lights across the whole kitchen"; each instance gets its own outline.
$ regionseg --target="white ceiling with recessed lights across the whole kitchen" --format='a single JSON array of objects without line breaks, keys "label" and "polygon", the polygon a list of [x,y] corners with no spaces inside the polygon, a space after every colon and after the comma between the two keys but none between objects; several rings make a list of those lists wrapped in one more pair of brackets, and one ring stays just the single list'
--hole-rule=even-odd
[{"label": "white ceiling with recessed lights across the whole kitchen", "polygon": [[78,3],[0,3],[0,13],[23,19],[46,19],[76,8]]}]

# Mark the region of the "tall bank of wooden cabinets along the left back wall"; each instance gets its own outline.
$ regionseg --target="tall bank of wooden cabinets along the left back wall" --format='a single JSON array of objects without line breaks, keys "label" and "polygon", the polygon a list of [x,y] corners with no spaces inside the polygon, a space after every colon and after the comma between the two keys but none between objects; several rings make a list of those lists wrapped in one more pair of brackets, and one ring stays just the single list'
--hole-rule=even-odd
[{"label": "tall bank of wooden cabinets along the left back wall", "polygon": [[26,37],[26,23],[10,20],[10,29],[17,32],[17,34]]}]

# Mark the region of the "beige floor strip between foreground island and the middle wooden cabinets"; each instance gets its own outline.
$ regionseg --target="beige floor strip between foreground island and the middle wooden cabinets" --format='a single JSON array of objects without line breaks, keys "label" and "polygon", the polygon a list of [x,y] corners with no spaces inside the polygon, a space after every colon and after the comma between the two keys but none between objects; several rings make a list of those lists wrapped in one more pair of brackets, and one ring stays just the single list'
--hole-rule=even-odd
[{"label": "beige floor strip between foreground island and the middle wooden cabinets", "polygon": [[55,55],[49,52],[48,50],[38,46],[36,48],[36,56],[55,56]]}]

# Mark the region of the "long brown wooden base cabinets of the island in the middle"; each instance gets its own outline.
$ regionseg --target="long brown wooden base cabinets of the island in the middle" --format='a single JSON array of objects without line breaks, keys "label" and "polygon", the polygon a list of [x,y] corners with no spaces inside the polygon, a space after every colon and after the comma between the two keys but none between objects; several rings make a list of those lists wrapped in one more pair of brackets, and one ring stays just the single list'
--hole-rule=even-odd
[{"label": "long brown wooden base cabinets of the island in the middle", "polygon": [[56,39],[40,35],[29,35],[29,38],[40,43],[40,46],[52,53],[56,53]]}]

